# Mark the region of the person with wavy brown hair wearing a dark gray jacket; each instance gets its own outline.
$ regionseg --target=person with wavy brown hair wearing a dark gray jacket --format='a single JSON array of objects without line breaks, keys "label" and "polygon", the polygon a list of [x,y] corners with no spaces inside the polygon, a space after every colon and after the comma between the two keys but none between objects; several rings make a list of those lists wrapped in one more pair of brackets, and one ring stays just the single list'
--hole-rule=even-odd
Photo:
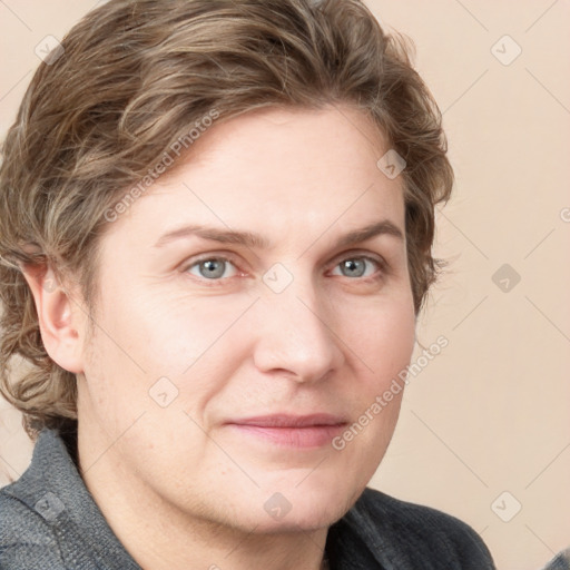
[{"label": "person with wavy brown hair wearing a dark gray jacket", "polygon": [[493,568],[366,488],[436,274],[440,118],[355,0],[111,0],[51,50],[0,171],[2,392],[37,439],[2,568]]}]

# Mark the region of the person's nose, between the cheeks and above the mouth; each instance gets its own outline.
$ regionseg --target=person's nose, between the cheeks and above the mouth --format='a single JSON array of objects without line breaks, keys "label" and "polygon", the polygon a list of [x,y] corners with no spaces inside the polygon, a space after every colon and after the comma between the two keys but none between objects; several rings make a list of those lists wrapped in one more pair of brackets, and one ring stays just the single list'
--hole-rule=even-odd
[{"label": "person's nose, between the cheeks and above the mouth", "polygon": [[269,291],[257,303],[254,362],[262,372],[316,382],[341,367],[343,342],[333,307],[298,281],[282,293]]}]

